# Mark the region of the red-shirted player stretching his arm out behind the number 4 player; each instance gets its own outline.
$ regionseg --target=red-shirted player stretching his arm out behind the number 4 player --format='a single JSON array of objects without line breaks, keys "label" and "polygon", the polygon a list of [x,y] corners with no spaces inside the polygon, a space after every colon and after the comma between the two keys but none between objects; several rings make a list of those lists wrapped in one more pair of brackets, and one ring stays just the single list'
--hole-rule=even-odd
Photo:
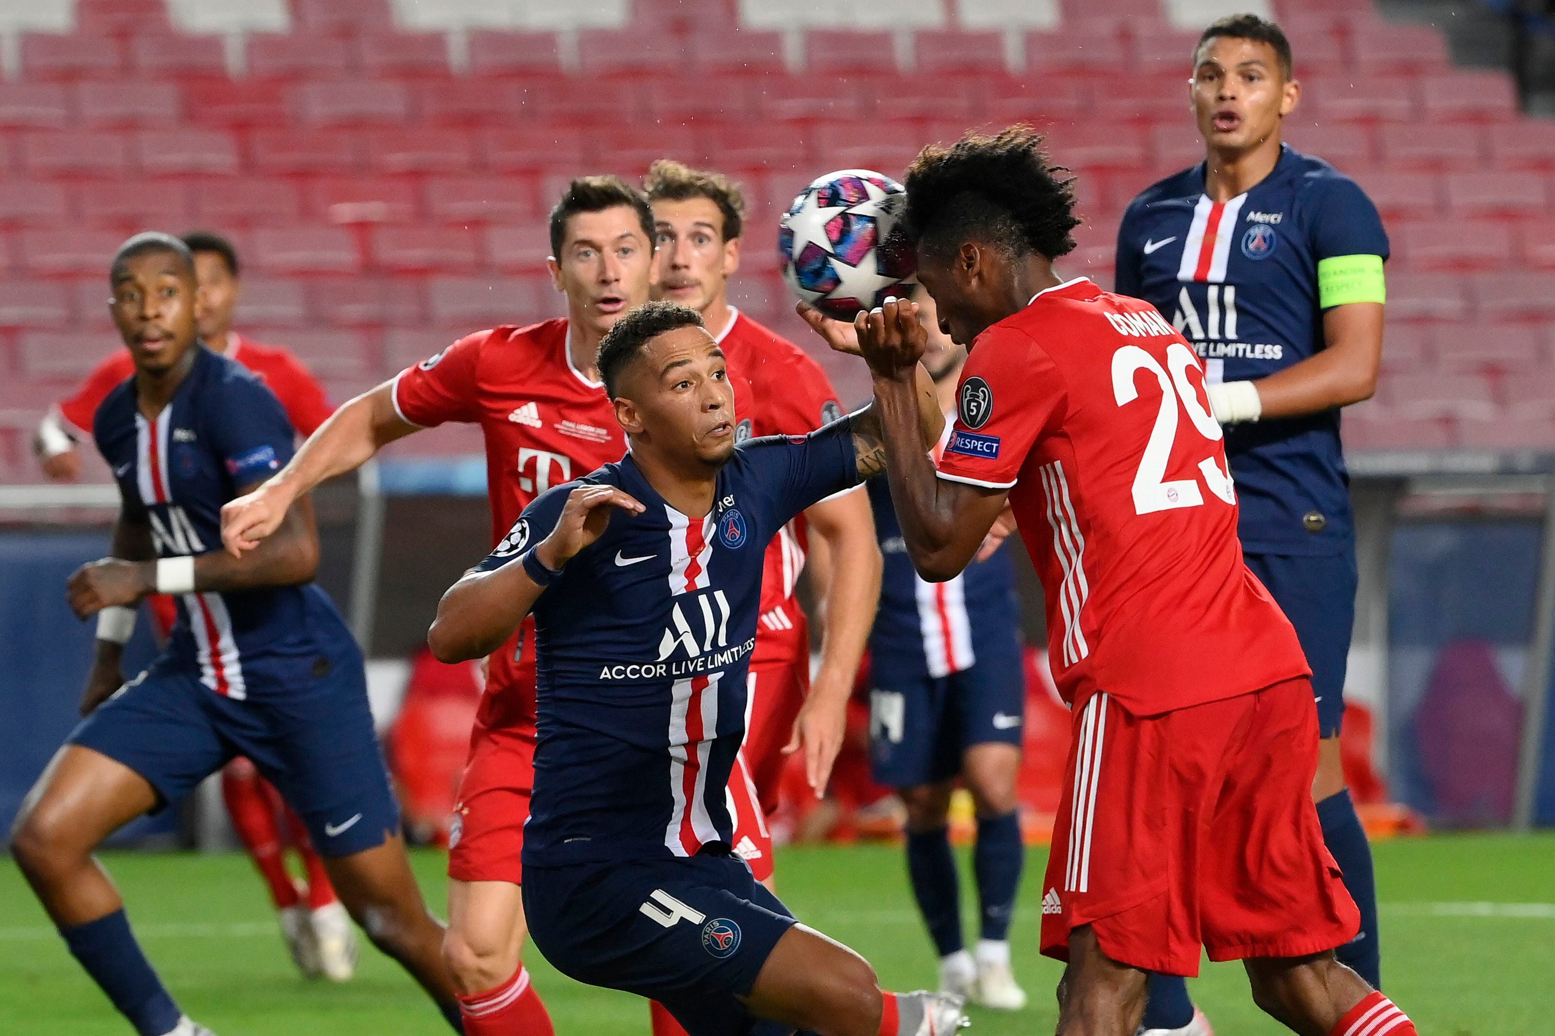
[{"label": "red-shirted player stretching his arm out behind the number 4 player", "polygon": [[[564,320],[460,339],[341,407],[275,478],[224,508],[227,548],[247,550],[300,494],[445,421],[480,424],[485,433],[493,545],[547,488],[620,460],[625,440],[594,354],[620,314],[647,301],[653,216],[619,177],[582,177],[550,213],[550,276],[568,298]],[[449,837],[445,952],[470,1036],[550,1031],[521,958],[521,850],[535,749],[530,632],[521,626],[490,659]],[[753,791],[734,791],[745,820],[754,814]],[[740,837],[760,839],[760,831]]]}]

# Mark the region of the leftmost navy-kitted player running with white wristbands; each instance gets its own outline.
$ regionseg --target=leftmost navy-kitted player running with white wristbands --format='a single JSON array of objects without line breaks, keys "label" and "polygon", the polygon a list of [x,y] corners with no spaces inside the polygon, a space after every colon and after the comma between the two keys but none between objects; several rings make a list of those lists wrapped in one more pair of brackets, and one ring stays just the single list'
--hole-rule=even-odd
[{"label": "leftmost navy-kitted player running with white wristbands", "polygon": [[[291,422],[263,382],[199,343],[183,242],[137,235],[110,278],[135,374],[98,407],[93,433],[123,505],[112,555],[68,584],[76,615],[100,617],[86,719],[28,794],[11,851],[70,952],[135,1031],[207,1033],[157,979],[92,853],[244,755],[303,817],[351,916],[457,1030],[443,929],[406,859],[362,655],[313,584],[313,511],[294,508],[241,561],[221,550],[221,505],[286,463]],[[109,609],[154,592],[177,596],[179,618],[163,652],[126,683],[123,612]]]}]

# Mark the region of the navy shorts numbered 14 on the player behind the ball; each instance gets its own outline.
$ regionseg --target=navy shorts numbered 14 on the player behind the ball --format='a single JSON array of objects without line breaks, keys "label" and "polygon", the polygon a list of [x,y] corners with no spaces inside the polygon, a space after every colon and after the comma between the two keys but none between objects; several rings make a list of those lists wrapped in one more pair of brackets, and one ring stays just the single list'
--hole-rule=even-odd
[{"label": "navy shorts numbered 14 on the player behind the ball", "polygon": [[[1008,654],[1008,657],[1000,657]],[[869,691],[869,769],[888,787],[947,781],[975,744],[1023,735],[1026,674],[1019,649],[978,654],[970,669],[931,677],[897,673],[877,655]]]}]

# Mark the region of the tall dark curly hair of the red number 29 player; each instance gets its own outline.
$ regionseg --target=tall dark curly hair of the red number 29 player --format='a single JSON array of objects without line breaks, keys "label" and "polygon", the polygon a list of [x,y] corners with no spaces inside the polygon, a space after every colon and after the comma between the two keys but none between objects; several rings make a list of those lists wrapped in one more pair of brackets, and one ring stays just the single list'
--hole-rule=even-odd
[{"label": "tall dark curly hair of the red number 29 player", "polygon": [[1075,250],[1075,180],[1048,162],[1042,134],[1011,126],[992,137],[966,134],[950,148],[928,144],[907,169],[907,241],[947,255],[983,241],[1025,256],[1056,259]]}]

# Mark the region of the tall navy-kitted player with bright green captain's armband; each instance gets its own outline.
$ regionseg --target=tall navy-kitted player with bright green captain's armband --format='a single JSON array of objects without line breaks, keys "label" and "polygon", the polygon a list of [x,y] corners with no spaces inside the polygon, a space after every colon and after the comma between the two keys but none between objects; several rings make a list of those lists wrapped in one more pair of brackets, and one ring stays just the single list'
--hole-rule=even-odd
[{"label": "tall navy-kitted player with bright green captain's armband", "polygon": [[1376,986],[1372,851],[1339,756],[1356,593],[1339,410],[1376,388],[1387,233],[1354,180],[1281,143],[1302,87],[1277,25],[1249,14],[1205,30],[1191,92],[1207,158],[1129,205],[1116,290],[1154,303],[1204,360],[1247,565],[1312,666],[1312,795],[1362,916],[1339,958]]}]

